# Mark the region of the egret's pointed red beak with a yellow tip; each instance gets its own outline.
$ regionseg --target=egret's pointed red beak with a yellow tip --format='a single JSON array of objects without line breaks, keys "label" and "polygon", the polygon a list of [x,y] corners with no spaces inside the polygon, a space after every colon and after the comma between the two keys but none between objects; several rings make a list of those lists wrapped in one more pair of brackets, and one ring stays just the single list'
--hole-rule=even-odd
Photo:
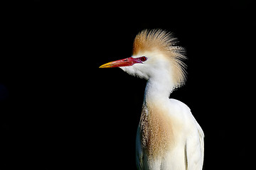
[{"label": "egret's pointed red beak with a yellow tip", "polygon": [[129,58],[117,60],[114,62],[108,62],[106,64],[101,65],[100,68],[127,67],[127,66],[132,66],[135,63],[142,63],[142,62],[137,58],[129,57]]}]

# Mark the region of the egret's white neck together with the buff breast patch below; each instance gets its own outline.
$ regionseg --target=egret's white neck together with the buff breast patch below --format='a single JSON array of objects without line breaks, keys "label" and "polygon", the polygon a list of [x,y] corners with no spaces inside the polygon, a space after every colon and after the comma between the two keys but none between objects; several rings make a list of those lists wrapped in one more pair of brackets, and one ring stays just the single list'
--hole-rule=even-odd
[{"label": "egret's white neck together with the buff breast patch below", "polygon": [[174,83],[164,74],[150,77],[146,83],[144,104],[139,123],[142,148],[149,159],[164,157],[171,143],[172,123],[169,117],[169,95]]}]

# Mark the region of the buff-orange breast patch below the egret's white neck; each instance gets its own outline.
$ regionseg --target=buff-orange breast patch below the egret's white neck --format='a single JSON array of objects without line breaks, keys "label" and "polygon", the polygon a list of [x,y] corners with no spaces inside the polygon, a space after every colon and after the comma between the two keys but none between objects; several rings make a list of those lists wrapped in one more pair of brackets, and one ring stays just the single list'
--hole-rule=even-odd
[{"label": "buff-orange breast patch below the egret's white neck", "polygon": [[144,104],[139,126],[142,148],[149,158],[160,157],[174,146],[174,125],[165,108]]}]

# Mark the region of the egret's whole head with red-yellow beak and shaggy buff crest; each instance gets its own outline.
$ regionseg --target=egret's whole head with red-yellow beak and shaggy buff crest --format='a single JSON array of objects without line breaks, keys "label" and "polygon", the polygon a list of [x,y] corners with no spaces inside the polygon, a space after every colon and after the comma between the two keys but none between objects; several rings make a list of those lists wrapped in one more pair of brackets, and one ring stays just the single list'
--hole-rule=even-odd
[{"label": "egret's whole head with red-yellow beak and shaggy buff crest", "polygon": [[142,30],[134,39],[132,57],[102,64],[100,68],[119,67],[143,79],[170,78],[175,86],[186,80],[183,47],[176,45],[172,33],[161,29]]}]

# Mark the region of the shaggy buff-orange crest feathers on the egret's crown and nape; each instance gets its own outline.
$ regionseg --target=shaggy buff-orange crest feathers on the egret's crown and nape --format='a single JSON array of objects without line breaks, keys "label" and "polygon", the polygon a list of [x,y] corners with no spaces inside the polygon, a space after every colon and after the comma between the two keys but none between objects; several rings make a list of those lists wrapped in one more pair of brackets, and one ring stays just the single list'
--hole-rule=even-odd
[{"label": "shaggy buff-orange crest feathers on the egret's crown and nape", "polygon": [[[172,77],[176,87],[186,81],[185,49],[177,46],[177,38],[172,33],[161,29],[142,30],[134,39],[133,56],[143,56],[148,53],[161,54],[170,62]],[[145,55],[146,56],[146,55]],[[157,56],[155,56],[157,57]]]}]

